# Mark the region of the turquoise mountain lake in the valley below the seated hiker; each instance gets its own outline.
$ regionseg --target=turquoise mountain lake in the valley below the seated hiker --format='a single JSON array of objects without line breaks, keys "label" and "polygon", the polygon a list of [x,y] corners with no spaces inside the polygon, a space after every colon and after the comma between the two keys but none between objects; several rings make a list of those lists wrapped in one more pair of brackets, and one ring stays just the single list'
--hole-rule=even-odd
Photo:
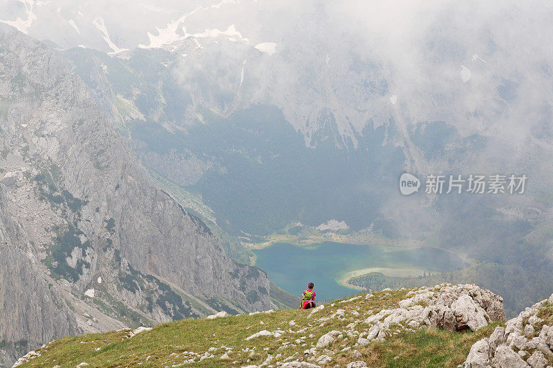
[{"label": "turquoise mountain lake in the valley below the seated hiker", "polygon": [[371,267],[450,271],[465,267],[457,255],[432,247],[391,248],[323,242],[309,246],[277,243],[254,251],[256,267],[285,291],[301,295],[308,282],[315,283],[317,300],[344,298],[355,293],[337,280],[348,272]]}]

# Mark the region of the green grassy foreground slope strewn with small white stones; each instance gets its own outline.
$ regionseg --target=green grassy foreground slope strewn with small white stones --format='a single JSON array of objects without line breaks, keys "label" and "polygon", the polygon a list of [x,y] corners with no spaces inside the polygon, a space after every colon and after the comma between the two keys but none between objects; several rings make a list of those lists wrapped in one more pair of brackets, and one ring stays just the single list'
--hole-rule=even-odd
[{"label": "green grassy foreground slope strewn with small white stones", "polygon": [[[309,317],[311,311],[288,309],[211,320],[180,320],[132,337],[131,330],[67,337],[38,349],[40,356],[20,367],[74,368],[82,362],[88,367],[243,367],[263,363],[278,367],[283,362],[305,359],[304,351],[317,345],[324,333],[344,331],[356,318],[362,321],[384,308],[397,307],[408,292],[409,289],[375,293],[368,300],[357,298],[348,303],[337,300],[317,311],[316,318]],[[330,318],[338,309],[345,309],[348,318]],[[354,346],[357,338],[346,336],[320,354],[330,356],[326,367],[346,367],[353,360],[364,360],[370,367],[456,367],[465,360],[474,342],[489,336],[499,323],[474,333],[433,328],[410,331],[398,326],[385,341]],[[359,331],[367,328],[363,323],[357,325]],[[263,330],[283,333],[246,340]],[[354,349],[361,354],[359,358],[352,358]]]}]

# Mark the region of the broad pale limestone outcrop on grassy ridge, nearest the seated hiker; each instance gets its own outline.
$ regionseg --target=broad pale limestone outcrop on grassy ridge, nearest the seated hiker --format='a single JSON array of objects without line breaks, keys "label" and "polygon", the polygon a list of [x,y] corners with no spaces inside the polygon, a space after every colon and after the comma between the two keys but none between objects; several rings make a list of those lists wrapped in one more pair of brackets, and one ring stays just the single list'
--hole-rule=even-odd
[{"label": "broad pale limestone outcrop on grassy ridge, nearest the seated hiker", "polygon": [[[263,330],[245,340],[263,336],[281,338],[290,333],[298,333],[300,337],[290,346],[301,345],[308,349],[303,351],[301,358],[290,357],[289,360],[294,358],[294,361],[283,367],[308,367],[308,364],[325,366],[332,360],[332,356],[338,355],[350,357],[347,367],[366,367],[367,363],[359,360],[362,354],[357,349],[366,349],[367,345],[375,341],[389,340],[397,335],[398,329],[414,331],[421,327],[438,327],[453,332],[476,331],[491,321],[505,320],[503,299],[473,284],[441,284],[431,288],[413,289],[394,308],[384,308],[377,313],[372,309],[364,312],[362,306],[365,302],[386,300],[391,293],[397,293],[390,289],[383,292],[377,295],[370,293],[364,298],[355,296],[330,306],[321,304],[308,315],[311,323],[299,331]],[[332,325],[336,321],[348,325],[345,329],[327,330],[328,332],[322,334],[318,332],[321,327]],[[290,321],[290,326],[294,325],[295,322]],[[301,335],[309,335],[314,341],[310,346],[305,345],[306,336]],[[349,341],[353,345],[349,345]],[[474,356],[487,354],[487,345],[481,345],[471,352]]]}]

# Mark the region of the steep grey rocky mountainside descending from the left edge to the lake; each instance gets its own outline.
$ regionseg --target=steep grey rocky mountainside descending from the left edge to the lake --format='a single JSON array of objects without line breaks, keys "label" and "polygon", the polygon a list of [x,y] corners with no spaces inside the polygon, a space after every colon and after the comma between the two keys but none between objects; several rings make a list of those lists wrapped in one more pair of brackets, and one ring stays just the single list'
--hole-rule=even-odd
[{"label": "steep grey rocky mountainside descending from the left edge to the lake", "polygon": [[270,307],[265,274],[149,182],[55,52],[1,26],[0,80],[0,365],[79,331]]}]

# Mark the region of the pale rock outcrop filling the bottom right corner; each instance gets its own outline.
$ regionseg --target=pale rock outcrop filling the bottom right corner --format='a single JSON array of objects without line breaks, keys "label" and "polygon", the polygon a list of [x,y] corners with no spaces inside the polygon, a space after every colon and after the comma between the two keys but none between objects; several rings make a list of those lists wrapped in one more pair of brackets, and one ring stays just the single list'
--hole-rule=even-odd
[{"label": "pale rock outcrop filling the bottom right corner", "polygon": [[476,342],[461,368],[553,366],[553,295]]}]

